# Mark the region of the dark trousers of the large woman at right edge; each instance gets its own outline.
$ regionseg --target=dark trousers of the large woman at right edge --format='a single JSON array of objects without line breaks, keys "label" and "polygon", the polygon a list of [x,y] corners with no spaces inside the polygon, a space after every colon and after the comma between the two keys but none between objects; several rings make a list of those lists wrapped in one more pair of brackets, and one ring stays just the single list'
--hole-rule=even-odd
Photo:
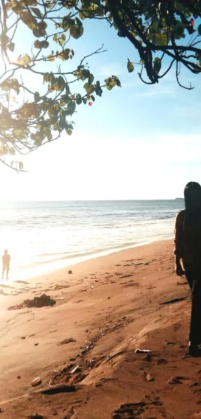
[{"label": "dark trousers of the large woman at right edge", "polygon": [[201,273],[187,271],[186,278],[191,288],[192,309],[189,340],[201,344]]}]

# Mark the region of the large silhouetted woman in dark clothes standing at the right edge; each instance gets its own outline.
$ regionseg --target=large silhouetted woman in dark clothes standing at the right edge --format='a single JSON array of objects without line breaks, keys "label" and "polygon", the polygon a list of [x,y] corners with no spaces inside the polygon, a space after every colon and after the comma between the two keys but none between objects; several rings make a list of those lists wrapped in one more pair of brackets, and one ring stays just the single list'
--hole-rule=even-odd
[{"label": "large silhouetted woman in dark clothes standing at the right edge", "polygon": [[192,291],[189,353],[200,356],[201,350],[201,185],[189,182],[184,190],[185,210],[175,222],[175,270],[186,275]]}]

